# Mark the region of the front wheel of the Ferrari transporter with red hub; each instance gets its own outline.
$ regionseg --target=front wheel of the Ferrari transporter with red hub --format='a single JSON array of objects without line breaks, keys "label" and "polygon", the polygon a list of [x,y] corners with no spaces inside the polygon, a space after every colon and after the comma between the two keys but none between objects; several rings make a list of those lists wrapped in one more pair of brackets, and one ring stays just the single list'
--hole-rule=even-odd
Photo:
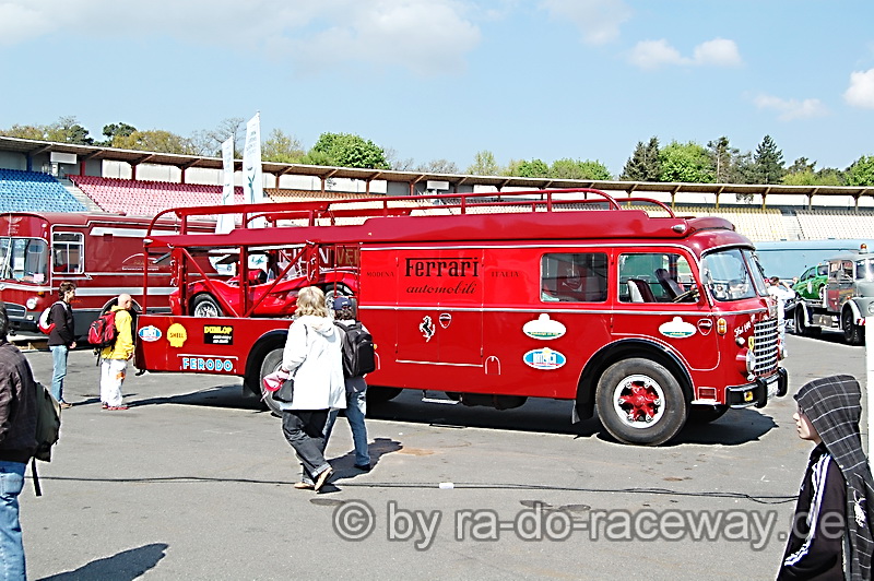
[{"label": "front wheel of the Ferrari transporter with red hub", "polygon": [[664,443],[683,429],[688,417],[676,378],[662,365],[643,358],[610,366],[598,381],[595,404],[601,424],[624,443]]}]

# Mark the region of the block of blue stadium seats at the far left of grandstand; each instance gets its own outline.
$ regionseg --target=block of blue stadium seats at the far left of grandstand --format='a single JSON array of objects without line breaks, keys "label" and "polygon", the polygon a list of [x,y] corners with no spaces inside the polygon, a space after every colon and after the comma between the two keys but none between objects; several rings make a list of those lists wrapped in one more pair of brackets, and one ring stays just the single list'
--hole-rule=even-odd
[{"label": "block of blue stadium seats at the far left of grandstand", "polygon": [[86,209],[48,174],[0,168],[0,211],[84,212]]}]

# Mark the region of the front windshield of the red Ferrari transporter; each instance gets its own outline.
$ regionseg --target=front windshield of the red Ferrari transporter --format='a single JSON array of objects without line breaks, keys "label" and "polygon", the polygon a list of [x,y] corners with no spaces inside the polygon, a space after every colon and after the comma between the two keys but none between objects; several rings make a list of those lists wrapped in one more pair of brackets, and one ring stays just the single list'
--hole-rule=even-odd
[{"label": "front windshield of the red Ferrari transporter", "polygon": [[752,250],[732,248],[701,259],[701,278],[717,300],[741,300],[765,294],[765,280]]}]

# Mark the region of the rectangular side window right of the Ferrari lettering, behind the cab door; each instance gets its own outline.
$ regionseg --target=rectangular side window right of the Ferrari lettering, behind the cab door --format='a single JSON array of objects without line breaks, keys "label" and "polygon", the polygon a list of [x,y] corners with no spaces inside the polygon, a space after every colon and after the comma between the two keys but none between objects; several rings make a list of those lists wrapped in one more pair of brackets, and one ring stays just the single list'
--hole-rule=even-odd
[{"label": "rectangular side window right of the Ferrari lettering, behind the cab door", "polygon": [[541,300],[602,303],[607,299],[604,252],[550,253],[541,259]]}]

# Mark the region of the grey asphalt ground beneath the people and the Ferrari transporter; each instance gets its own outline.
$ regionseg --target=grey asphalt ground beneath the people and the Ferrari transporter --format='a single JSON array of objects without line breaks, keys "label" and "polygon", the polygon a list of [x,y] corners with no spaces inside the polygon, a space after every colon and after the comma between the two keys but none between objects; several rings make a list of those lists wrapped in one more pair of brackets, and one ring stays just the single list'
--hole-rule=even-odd
[{"label": "grey asphalt ground beneath the people and the Ferrari transporter", "polygon": [[[837,372],[864,384],[864,347],[788,345],[790,394]],[[26,356],[48,383],[50,354]],[[130,410],[107,412],[91,351],[69,367],[44,496],[29,477],[21,496],[31,579],[772,579],[812,448],[791,396],[642,448],[572,426],[569,402],[408,391],[368,411],[370,473],[338,420],[338,477],[315,494],[292,487],[280,422],[239,380],[131,374]]]}]

